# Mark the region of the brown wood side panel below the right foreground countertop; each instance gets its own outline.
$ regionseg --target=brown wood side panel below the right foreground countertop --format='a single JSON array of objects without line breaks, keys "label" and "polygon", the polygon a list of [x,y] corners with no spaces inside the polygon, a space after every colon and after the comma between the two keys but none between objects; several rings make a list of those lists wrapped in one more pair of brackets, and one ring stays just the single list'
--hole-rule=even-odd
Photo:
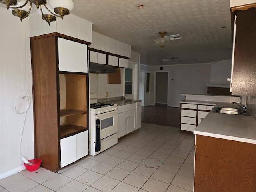
[{"label": "brown wood side panel below the right foreground countertop", "polygon": [[196,135],[194,192],[255,192],[256,144]]}]

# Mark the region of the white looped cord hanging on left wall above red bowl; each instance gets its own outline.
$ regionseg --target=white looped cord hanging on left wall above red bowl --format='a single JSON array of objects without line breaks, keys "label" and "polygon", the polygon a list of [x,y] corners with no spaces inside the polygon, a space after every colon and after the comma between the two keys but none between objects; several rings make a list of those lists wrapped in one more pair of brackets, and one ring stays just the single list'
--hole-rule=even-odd
[{"label": "white looped cord hanging on left wall above red bowl", "polygon": [[[27,93],[27,96],[22,96],[22,97],[19,98],[19,96],[20,96],[20,94],[21,94],[22,92],[26,92],[26,93]],[[18,99],[18,98],[19,98],[19,99]],[[26,106],[26,108],[25,108],[24,111],[19,112],[19,111],[17,110],[17,105],[18,105],[18,103],[19,103],[20,101],[24,101],[24,100],[28,100],[28,105]],[[27,114],[27,111],[28,111],[29,106],[30,106],[29,92],[28,92],[28,90],[24,89],[24,90],[22,90],[22,91],[17,95],[17,97],[16,97],[16,99],[15,99],[14,110],[15,110],[16,114],[19,114],[19,115],[24,114],[23,123],[22,123],[22,130],[21,130],[21,135],[20,135],[20,159],[21,159],[24,163],[29,164],[29,165],[32,165],[32,163],[30,163],[24,156],[22,156],[22,153],[21,153],[21,142],[22,142],[22,136],[23,136],[23,132],[24,132],[24,124],[25,124],[26,114]]]}]

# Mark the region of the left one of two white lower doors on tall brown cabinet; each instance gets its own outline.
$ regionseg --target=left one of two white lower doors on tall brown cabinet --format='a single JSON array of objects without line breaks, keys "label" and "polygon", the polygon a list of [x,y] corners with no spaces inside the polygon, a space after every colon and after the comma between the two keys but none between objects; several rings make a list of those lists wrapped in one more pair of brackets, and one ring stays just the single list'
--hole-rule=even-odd
[{"label": "left one of two white lower doors on tall brown cabinet", "polygon": [[61,167],[76,161],[76,135],[60,140]]}]

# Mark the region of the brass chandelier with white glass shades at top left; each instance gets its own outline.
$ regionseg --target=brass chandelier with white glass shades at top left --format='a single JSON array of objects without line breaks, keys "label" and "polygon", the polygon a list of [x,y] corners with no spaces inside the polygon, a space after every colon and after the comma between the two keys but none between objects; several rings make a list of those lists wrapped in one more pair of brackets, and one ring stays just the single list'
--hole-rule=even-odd
[{"label": "brass chandelier with white glass shades at top left", "polygon": [[[32,3],[36,5],[38,14],[42,19],[48,22],[56,21],[56,17],[63,19],[69,11],[74,8],[73,0],[0,0],[6,5],[7,10],[11,10],[14,16],[22,19],[28,17],[32,10]],[[47,4],[47,6],[46,6]],[[48,6],[49,5],[49,6]]]}]

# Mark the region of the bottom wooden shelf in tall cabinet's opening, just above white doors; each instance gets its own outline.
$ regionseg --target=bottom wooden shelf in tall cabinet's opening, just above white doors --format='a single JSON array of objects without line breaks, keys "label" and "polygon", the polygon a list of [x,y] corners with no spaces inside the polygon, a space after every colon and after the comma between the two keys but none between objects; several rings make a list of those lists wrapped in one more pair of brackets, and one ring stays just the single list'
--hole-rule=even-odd
[{"label": "bottom wooden shelf in tall cabinet's opening, just above white doors", "polygon": [[63,139],[65,137],[69,137],[86,130],[88,130],[88,128],[83,126],[65,124],[60,126],[60,138]]}]

